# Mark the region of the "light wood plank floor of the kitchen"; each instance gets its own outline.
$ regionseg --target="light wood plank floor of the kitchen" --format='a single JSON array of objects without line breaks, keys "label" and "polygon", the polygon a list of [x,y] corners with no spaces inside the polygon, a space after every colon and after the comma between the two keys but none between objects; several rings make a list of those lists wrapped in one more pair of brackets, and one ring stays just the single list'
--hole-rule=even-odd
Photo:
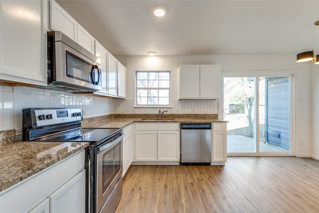
[{"label": "light wood plank floor of the kitchen", "polygon": [[226,166],[131,166],[117,213],[319,213],[319,161],[228,157]]}]

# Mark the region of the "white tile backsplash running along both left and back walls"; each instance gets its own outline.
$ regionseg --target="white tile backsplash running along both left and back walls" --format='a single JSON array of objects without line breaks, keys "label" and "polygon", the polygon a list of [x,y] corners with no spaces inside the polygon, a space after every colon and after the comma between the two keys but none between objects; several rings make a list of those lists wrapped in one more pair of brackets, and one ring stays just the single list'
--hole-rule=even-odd
[{"label": "white tile backsplash running along both left and back walls", "polygon": [[83,118],[110,114],[218,114],[218,100],[171,100],[170,107],[135,107],[134,99],[112,99],[37,87],[0,86],[0,131],[22,130],[22,109],[81,107]]}]

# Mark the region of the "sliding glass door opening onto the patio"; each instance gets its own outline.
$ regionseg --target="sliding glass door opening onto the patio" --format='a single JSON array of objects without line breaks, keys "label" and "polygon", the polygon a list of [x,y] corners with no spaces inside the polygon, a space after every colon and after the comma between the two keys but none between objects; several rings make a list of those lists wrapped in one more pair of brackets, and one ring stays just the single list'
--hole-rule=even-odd
[{"label": "sliding glass door opening onto the patio", "polygon": [[223,77],[228,155],[291,154],[293,76]]}]

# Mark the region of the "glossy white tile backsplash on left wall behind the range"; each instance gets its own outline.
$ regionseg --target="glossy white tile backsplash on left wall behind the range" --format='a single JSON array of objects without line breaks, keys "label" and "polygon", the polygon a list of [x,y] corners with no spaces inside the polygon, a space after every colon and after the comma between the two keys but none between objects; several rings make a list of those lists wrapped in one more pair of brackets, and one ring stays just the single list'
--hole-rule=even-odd
[{"label": "glossy white tile backsplash on left wall behind the range", "polygon": [[72,94],[35,87],[0,86],[0,131],[22,129],[22,109],[41,107],[81,107],[84,118],[109,115],[113,99]]}]

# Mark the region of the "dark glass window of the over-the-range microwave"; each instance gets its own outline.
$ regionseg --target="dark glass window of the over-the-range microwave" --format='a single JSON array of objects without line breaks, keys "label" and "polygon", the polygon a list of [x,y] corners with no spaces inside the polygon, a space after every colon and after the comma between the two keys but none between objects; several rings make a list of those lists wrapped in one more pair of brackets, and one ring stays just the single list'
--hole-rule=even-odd
[{"label": "dark glass window of the over-the-range microwave", "polygon": [[91,83],[92,64],[66,51],[66,76]]}]

